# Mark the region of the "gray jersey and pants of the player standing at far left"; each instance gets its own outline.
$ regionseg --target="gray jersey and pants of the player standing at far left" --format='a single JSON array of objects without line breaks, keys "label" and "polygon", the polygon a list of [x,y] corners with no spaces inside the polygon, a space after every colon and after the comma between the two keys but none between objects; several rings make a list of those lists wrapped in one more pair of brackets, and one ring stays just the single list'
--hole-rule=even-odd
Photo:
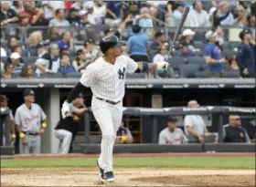
[{"label": "gray jersey and pants of the player standing at far left", "polygon": [[16,125],[20,126],[20,130],[25,133],[25,138],[28,140],[27,144],[22,144],[20,141],[21,154],[41,152],[41,136],[37,132],[41,128],[41,121],[45,119],[47,119],[46,114],[35,103],[32,103],[31,109],[27,109],[25,104],[16,109]]}]

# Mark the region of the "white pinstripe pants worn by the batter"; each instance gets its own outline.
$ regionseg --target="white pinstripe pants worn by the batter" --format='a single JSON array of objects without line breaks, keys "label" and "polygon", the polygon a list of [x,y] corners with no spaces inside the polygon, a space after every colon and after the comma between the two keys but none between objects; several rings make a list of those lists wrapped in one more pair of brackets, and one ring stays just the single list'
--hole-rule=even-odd
[{"label": "white pinstripe pants worn by the batter", "polygon": [[112,105],[92,97],[91,109],[102,133],[99,165],[105,172],[113,171],[112,150],[116,132],[122,122],[123,102],[121,101],[116,105]]}]

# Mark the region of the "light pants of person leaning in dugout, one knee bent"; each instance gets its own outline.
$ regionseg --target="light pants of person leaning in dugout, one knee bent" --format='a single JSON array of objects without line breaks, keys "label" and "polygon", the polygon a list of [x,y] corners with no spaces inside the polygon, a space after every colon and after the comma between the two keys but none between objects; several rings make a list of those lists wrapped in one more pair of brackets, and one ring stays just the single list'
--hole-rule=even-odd
[{"label": "light pants of person leaning in dugout, one knee bent", "polygon": [[69,153],[69,147],[72,140],[72,133],[68,130],[54,130],[54,134],[59,139],[59,154]]}]

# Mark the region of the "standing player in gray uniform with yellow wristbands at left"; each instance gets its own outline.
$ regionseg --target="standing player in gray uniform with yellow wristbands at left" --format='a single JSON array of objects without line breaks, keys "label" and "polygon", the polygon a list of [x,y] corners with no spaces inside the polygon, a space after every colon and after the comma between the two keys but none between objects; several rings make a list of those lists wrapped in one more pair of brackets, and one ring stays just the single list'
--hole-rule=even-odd
[{"label": "standing player in gray uniform with yellow wristbands at left", "polygon": [[41,134],[47,128],[47,116],[35,102],[32,89],[24,91],[24,104],[16,109],[15,122],[19,132],[20,153],[39,154],[41,152]]}]

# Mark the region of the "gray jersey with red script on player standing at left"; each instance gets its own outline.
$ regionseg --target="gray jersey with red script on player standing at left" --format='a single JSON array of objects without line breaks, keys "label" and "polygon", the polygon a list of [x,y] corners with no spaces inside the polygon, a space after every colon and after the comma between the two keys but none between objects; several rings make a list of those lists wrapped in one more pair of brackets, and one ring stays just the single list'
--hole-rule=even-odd
[{"label": "gray jersey with red script on player standing at left", "polygon": [[45,119],[45,112],[36,103],[32,103],[31,109],[27,109],[25,104],[16,109],[15,122],[22,131],[37,132],[41,128],[41,121]]}]

